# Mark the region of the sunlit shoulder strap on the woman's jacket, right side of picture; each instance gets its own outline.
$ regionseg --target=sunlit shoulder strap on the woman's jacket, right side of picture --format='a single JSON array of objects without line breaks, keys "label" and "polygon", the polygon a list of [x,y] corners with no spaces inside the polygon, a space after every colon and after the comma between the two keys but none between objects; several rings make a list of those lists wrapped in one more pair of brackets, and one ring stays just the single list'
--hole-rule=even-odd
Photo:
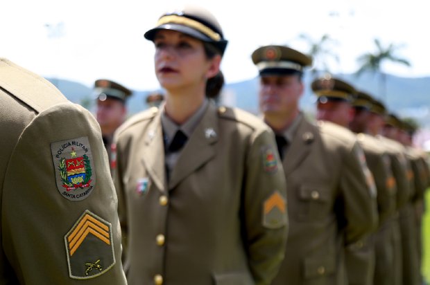
[{"label": "sunlit shoulder strap on the woman's jacket, right side of picture", "polygon": [[267,130],[268,126],[254,114],[232,107],[218,107],[218,116],[221,120],[230,121],[234,124],[246,126],[254,131]]}]

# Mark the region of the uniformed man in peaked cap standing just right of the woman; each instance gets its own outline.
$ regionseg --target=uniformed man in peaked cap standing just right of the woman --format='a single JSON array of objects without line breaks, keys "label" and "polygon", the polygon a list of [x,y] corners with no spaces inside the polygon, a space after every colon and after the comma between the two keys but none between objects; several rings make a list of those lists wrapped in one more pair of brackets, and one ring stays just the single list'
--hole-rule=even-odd
[{"label": "uniformed man in peaked cap standing just right of the woman", "polygon": [[259,107],[275,131],[289,197],[290,230],[273,284],[347,284],[344,249],[377,223],[354,135],[330,122],[313,125],[299,109],[311,57],[286,46],[252,53]]}]

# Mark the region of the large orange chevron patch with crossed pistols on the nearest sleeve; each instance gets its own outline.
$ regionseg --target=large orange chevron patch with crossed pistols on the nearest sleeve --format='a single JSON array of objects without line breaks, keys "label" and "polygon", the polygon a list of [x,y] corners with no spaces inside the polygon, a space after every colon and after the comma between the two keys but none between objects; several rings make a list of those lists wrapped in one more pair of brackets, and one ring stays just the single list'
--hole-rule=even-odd
[{"label": "large orange chevron patch with crossed pistols on the nearest sleeve", "polygon": [[69,276],[89,279],[115,264],[111,224],[86,210],[65,235]]}]

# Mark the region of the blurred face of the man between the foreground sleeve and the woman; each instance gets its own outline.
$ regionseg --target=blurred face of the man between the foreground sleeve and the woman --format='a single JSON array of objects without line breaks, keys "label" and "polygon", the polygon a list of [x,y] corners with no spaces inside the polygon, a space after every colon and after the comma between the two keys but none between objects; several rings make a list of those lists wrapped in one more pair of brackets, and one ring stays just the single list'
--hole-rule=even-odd
[{"label": "blurred face of the man between the foreground sleeve and the woman", "polygon": [[104,101],[97,100],[97,122],[105,129],[116,129],[126,118],[126,107],[123,102],[107,98]]}]

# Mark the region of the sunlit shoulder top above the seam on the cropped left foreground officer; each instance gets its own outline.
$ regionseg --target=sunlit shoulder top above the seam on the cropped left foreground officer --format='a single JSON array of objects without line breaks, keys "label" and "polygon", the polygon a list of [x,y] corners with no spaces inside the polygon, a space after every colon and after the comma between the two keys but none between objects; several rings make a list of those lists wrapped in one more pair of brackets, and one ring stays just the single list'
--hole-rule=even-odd
[{"label": "sunlit shoulder top above the seam on the cropped left foreground officer", "polygon": [[51,82],[8,59],[0,59],[0,86],[37,113],[69,102]]}]

